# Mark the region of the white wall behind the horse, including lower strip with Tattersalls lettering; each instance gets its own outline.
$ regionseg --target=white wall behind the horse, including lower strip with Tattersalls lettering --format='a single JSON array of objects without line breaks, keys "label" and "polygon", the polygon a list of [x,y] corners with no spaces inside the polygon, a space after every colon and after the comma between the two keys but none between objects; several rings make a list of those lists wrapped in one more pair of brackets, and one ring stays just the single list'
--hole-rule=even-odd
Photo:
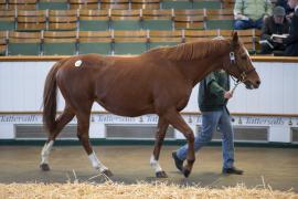
[{"label": "white wall behind the horse, including lower strip with Tattersalls lettering", "polygon": [[[258,90],[246,90],[240,85],[235,96],[230,101],[231,113],[255,114],[298,114],[298,64],[297,63],[254,63],[260,76],[262,85]],[[42,124],[40,114],[1,115],[1,112],[41,112],[42,94],[45,76],[54,62],[0,62],[0,139],[14,138],[14,124]],[[184,112],[198,112],[198,85],[193,88],[190,102]],[[58,97],[58,111],[62,111],[64,100]],[[94,105],[93,111],[104,111]],[[151,116],[135,119],[119,119],[120,117],[104,114],[110,121],[103,121],[100,114],[94,115],[91,124],[91,137],[104,138],[105,124],[156,124]],[[26,118],[34,116],[33,121]],[[156,117],[156,116],[153,116]],[[183,115],[184,119],[195,130],[201,124],[195,115]],[[290,127],[298,127],[298,118],[289,117],[246,117],[235,116],[234,125],[264,126],[269,129],[269,142],[290,142]],[[191,118],[191,119],[190,119]],[[274,121],[279,121],[275,124]],[[292,125],[289,125],[289,121]],[[141,122],[143,121],[143,122]],[[251,123],[252,121],[255,121]],[[177,138],[183,138],[175,132]]]}]

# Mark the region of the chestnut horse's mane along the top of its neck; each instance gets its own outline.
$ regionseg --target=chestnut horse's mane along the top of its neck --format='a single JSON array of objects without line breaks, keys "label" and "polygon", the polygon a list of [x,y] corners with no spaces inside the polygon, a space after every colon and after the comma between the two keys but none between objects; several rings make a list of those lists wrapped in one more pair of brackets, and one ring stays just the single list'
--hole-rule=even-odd
[{"label": "chestnut horse's mane along the top of its neck", "polygon": [[227,39],[200,40],[177,46],[162,46],[149,52],[162,54],[166,59],[173,61],[191,61],[214,54],[215,51],[222,51],[223,48],[228,46],[231,40]]}]

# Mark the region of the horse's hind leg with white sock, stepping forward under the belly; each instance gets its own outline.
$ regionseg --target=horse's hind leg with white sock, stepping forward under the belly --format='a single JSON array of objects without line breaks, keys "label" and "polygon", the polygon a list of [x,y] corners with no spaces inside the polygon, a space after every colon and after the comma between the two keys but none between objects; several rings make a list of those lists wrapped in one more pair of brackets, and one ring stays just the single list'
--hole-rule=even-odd
[{"label": "horse's hind leg with white sock, stepping forward under the belly", "polygon": [[86,150],[92,166],[95,170],[98,170],[102,174],[110,177],[113,176],[111,171],[100,163],[94,153],[92,145],[89,143],[89,114],[79,114],[77,115],[77,137],[82,142],[84,149]]}]

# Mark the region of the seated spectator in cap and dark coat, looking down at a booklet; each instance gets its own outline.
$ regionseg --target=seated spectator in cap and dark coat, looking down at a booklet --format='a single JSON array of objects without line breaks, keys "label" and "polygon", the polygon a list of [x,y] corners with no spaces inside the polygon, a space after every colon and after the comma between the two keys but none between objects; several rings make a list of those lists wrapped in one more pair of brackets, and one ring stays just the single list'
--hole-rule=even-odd
[{"label": "seated spectator in cap and dark coat, looking down at a booklet", "polygon": [[[260,54],[272,54],[274,51],[285,51],[284,43],[275,42],[273,34],[288,34],[290,20],[286,18],[283,7],[275,7],[273,15],[265,19],[260,35]],[[281,55],[283,53],[280,53]]]}]

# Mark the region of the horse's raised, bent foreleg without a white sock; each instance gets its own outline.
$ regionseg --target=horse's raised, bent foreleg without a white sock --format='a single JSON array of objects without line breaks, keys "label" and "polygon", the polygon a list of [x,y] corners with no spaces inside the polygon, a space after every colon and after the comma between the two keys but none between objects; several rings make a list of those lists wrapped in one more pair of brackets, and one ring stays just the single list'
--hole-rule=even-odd
[{"label": "horse's raised, bent foreleg without a white sock", "polygon": [[192,170],[192,166],[195,161],[194,156],[194,135],[192,129],[189,127],[189,125],[185,123],[185,121],[182,118],[182,116],[175,111],[175,109],[169,109],[164,114],[166,119],[178,130],[180,130],[185,138],[188,139],[188,164],[183,167],[183,174],[185,177],[189,177]]}]

